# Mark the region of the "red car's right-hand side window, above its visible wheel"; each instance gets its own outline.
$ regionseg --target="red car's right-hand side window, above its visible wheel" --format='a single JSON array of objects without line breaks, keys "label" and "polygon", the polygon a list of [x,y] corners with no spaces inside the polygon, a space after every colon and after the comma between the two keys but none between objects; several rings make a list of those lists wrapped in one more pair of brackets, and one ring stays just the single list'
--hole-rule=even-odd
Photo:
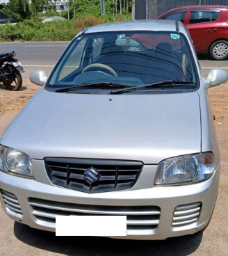
[{"label": "red car's right-hand side window, above its visible wheel", "polygon": [[219,15],[220,12],[213,10],[191,10],[189,24],[214,22]]}]

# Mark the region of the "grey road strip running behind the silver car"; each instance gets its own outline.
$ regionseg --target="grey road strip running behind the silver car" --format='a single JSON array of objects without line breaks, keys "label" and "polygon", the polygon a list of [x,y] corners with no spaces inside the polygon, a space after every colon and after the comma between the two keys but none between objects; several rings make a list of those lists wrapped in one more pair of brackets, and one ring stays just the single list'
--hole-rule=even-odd
[{"label": "grey road strip running behind the silver car", "polygon": [[[51,73],[56,61],[70,42],[6,42],[0,43],[0,53],[15,51],[24,67],[24,78],[34,70],[44,70]],[[206,78],[213,67],[219,67],[228,72],[228,61],[211,61],[206,56],[199,56],[199,64]]]}]

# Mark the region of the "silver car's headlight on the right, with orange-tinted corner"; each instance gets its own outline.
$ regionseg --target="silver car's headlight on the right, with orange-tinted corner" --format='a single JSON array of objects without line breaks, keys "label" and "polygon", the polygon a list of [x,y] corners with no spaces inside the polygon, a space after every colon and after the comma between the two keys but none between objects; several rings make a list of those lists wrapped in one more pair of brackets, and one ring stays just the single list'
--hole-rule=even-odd
[{"label": "silver car's headlight on the right, with orange-tinted corner", "polygon": [[215,170],[213,153],[192,154],[161,161],[155,185],[181,185],[209,179]]}]

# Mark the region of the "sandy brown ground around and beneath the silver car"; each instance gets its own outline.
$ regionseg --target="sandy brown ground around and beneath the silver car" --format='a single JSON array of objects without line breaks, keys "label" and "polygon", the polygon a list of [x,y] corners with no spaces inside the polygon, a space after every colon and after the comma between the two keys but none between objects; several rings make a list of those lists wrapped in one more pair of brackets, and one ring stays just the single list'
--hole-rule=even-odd
[{"label": "sandy brown ground around and beneath the silver car", "polygon": [[[0,86],[1,89],[1,86]],[[1,99],[29,99],[39,88],[24,82],[19,92],[0,90]],[[222,172],[215,211],[204,233],[165,241],[121,241],[95,237],[55,237],[15,223],[0,209],[0,255],[228,255],[228,84],[209,89],[215,128],[220,145]],[[18,103],[19,104],[19,103]],[[1,111],[0,136],[17,111]]]}]

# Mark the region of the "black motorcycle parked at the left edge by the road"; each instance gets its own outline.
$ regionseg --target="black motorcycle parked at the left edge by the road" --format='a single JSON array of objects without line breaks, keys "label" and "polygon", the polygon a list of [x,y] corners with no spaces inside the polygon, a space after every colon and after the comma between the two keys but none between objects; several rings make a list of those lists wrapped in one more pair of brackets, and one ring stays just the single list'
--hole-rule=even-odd
[{"label": "black motorcycle parked at the left edge by the road", "polygon": [[21,63],[17,58],[15,51],[6,54],[0,54],[0,82],[8,90],[19,90],[22,87],[22,72],[24,72]]}]

